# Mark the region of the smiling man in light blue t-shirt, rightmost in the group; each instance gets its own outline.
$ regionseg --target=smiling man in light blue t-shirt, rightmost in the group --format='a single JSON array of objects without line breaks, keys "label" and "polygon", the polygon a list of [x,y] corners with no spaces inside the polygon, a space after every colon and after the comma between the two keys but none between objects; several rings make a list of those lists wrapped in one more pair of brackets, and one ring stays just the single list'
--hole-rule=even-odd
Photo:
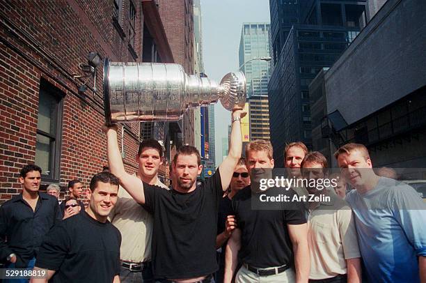
[{"label": "smiling man in light blue t-shirt, rightmost in the group", "polygon": [[369,282],[426,282],[426,208],[413,188],[374,174],[363,144],[334,154],[352,187],[352,206]]}]

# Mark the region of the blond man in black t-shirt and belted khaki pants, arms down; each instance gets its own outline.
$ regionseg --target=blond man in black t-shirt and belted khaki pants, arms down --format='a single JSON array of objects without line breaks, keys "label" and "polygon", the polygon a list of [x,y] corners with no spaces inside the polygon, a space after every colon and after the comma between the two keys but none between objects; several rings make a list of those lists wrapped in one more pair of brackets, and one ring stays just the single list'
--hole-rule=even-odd
[{"label": "blond man in black t-shirt and belted khaki pants, arms down", "polygon": [[[237,283],[308,282],[309,251],[305,211],[301,204],[292,209],[255,209],[255,182],[263,171],[272,171],[272,145],[262,139],[246,146],[246,166],[251,185],[232,198],[232,211],[238,227],[226,246],[223,282],[231,282],[241,259],[242,267],[235,275]],[[257,170],[256,170],[257,169]],[[266,169],[266,170],[263,170]],[[253,188],[251,188],[253,187]],[[269,190],[280,190],[270,188]],[[287,192],[292,199],[294,192]]]}]

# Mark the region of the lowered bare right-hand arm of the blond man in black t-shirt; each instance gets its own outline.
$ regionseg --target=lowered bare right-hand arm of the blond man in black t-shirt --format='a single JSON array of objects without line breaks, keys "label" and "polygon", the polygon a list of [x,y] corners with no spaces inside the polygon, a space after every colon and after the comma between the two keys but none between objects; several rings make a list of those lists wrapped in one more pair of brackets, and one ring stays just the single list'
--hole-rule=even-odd
[{"label": "lowered bare right-hand arm of the blond man in black t-shirt", "polygon": [[287,229],[293,245],[296,282],[308,282],[310,270],[308,226],[306,223],[298,225],[287,224]]}]

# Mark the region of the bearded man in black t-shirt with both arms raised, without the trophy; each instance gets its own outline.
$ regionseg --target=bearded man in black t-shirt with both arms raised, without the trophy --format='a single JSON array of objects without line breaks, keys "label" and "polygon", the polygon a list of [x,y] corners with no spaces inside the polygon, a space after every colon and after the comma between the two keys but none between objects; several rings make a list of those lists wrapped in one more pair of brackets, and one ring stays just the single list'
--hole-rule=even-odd
[{"label": "bearded man in black t-shirt with both arms raised, without the trophy", "polygon": [[216,223],[219,202],[230,184],[242,151],[241,109],[232,112],[228,157],[205,183],[196,185],[203,170],[194,146],[182,146],[173,158],[172,190],[143,183],[127,174],[118,149],[116,127],[107,133],[109,167],[132,197],[152,213],[152,266],[158,282],[210,282],[217,268]]}]

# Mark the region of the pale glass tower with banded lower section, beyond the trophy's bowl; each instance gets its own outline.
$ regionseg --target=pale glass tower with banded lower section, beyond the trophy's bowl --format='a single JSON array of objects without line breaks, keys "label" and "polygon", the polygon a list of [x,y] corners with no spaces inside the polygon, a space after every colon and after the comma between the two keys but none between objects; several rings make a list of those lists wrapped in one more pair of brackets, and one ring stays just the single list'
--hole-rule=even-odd
[{"label": "pale glass tower with banded lower section, beyond the trophy's bowl", "polygon": [[244,23],[239,43],[239,66],[247,80],[250,139],[269,141],[268,80],[269,24]]}]

